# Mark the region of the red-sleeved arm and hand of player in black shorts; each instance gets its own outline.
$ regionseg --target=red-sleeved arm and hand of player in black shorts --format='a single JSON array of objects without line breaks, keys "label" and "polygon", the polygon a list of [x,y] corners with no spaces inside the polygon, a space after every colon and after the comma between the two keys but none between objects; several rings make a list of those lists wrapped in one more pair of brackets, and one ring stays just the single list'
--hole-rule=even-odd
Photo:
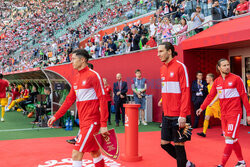
[{"label": "red-sleeved arm and hand of player in black shorts", "polygon": [[179,126],[182,128],[185,126],[186,117],[190,112],[190,86],[186,66],[183,65],[179,71],[179,81],[181,89],[181,108],[179,116]]}]

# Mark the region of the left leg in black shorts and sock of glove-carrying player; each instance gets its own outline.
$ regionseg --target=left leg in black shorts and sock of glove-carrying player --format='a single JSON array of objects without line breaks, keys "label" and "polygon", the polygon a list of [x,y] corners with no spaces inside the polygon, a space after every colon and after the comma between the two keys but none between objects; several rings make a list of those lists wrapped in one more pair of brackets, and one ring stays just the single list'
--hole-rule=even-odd
[{"label": "left leg in black shorts and sock of glove-carrying player", "polygon": [[162,117],[162,128],[161,128],[161,148],[165,150],[170,156],[176,159],[176,150],[175,147],[171,144],[172,131],[171,125],[172,122],[168,120],[165,116]]}]

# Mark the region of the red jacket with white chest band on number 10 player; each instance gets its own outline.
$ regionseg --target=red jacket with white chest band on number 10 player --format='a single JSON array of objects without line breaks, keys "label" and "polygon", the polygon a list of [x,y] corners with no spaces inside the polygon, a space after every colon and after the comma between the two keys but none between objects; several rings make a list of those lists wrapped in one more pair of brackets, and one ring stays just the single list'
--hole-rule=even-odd
[{"label": "red jacket with white chest band on number 10 player", "polygon": [[239,76],[229,73],[225,77],[225,80],[222,76],[218,77],[214,81],[207,98],[201,105],[202,110],[206,109],[217,93],[220,100],[222,116],[235,116],[242,114],[241,101],[246,108],[247,115],[250,116],[250,104],[248,103],[247,92],[243,81]]}]

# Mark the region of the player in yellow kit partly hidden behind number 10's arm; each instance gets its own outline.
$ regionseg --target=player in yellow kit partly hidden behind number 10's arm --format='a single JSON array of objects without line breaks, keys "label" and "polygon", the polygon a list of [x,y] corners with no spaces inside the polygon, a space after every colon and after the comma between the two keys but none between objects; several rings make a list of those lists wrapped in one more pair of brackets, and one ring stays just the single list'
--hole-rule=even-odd
[{"label": "player in yellow kit partly hidden behind number 10's arm", "polygon": [[[207,80],[207,83],[209,84],[207,86],[208,93],[210,93],[210,90],[211,90],[213,83],[214,83],[214,74],[212,74],[212,73],[207,74],[206,80]],[[203,124],[203,132],[197,133],[197,135],[202,136],[202,137],[206,137],[207,128],[209,125],[209,119],[211,116],[214,116],[214,118],[220,119],[221,112],[220,112],[220,102],[218,99],[219,99],[218,96],[216,96],[213,99],[213,101],[209,104],[209,106],[206,108],[205,120],[204,120],[204,124]]]}]

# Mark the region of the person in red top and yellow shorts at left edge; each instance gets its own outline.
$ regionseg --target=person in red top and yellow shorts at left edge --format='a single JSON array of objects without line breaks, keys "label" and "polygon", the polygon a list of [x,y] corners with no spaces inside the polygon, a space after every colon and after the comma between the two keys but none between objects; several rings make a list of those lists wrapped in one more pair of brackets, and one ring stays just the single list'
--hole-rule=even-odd
[{"label": "person in red top and yellow shorts at left edge", "polygon": [[5,106],[8,103],[8,99],[6,97],[6,88],[9,87],[9,82],[3,79],[3,74],[0,74],[0,104],[1,104],[1,121],[4,121],[4,113],[5,113]]}]

